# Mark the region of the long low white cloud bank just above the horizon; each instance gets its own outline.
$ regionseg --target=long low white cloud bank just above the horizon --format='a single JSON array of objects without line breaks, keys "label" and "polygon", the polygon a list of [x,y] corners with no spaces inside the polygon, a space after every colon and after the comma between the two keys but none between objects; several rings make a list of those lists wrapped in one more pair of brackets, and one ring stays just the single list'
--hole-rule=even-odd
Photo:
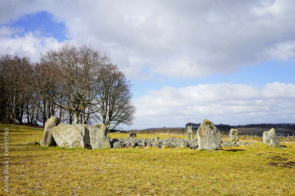
[{"label": "long low white cloud bank just above the horizon", "polygon": [[[182,88],[150,90],[136,98],[138,107],[134,128],[179,126],[200,123],[208,118],[215,124],[293,122],[295,116],[295,78],[286,83],[262,87],[244,84],[206,84]],[[293,84],[292,84],[293,83]]]}]

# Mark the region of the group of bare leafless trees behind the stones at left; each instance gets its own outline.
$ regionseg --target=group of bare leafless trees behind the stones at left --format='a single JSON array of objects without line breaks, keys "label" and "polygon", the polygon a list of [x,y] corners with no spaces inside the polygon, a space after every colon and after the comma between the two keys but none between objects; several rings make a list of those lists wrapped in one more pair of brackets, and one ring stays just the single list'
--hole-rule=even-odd
[{"label": "group of bare leafless trees behind the stones at left", "polygon": [[43,126],[55,115],[69,124],[132,125],[132,83],[106,53],[63,44],[28,57],[0,54],[0,120]]}]

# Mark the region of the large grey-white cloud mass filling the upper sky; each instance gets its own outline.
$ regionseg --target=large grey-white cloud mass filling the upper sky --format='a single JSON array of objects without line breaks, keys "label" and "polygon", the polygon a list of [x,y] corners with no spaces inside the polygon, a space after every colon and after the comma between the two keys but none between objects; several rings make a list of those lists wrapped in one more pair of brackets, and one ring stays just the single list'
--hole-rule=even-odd
[{"label": "large grey-white cloud mass filling the upper sky", "polygon": [[[153,74],[187,78],[186,71],[198,72],[199,77],[214,73],[233,73],[252,64],[278,37],[284,41],[265,61],[294,58],[295,3],[292,0],[274,0],[269,5],[264,5],[266,1],[254,0],[239,3],[171,1],[165,7],[161,6],[163,2],[155,0],[118,1],[115,6],[114,1],[67,2],[19,1],[1,18],[0,24],[9,25],[21,16],[45,10],[52,14],[54,21],[65,23],[65,34],[70,40],[75,40],[81,32],[85,32],[87,37],[79,44],[91,44],[94,48],[110,53],[113,61],[126,71],[130,79],[151,78]],[[1,7],[6,7],[9,3],[10,1],[3,1],[0,4]],[[207,9],[213,3],[216,6],[208,12]],[[107,9],[110,11],[107,12]],[[200,21],[199,16],[203,11],[208,14]],[[101,13],[107,14],[102,17]],[[143,22],[148,25],[136,37],[132,37],[131,33]],[[245,29],[237,32],[241,25]],[[169,46],[181,34],[185,38],[171,51]],[[234,37],[230,37],[232,34]],[[114,51],[128,38],[132,38],[132,41],[115,56]],[[19,38],[6,39],[5,43],[9,45],[2,45],[4,48],[1,52],[16,52],[11,43],[17,42]],[[37,43],[45,41],[47,44],[37,44],[37,48],[28,49],[31,52],[25,54],[33,59],[38,56],[34,50],[45,51],[48,47],[57,45],[55,38],[38,39]],[[216,53],[216,49],[222,47],[226,41],[229,41],[229,45],[221,48],[222,52],[213,59],[212,53]],[[146,66],[159,58],[165,50],[169,54],[157,68],[146,73]],[[140,61],[130,61],[134,58]]]}]

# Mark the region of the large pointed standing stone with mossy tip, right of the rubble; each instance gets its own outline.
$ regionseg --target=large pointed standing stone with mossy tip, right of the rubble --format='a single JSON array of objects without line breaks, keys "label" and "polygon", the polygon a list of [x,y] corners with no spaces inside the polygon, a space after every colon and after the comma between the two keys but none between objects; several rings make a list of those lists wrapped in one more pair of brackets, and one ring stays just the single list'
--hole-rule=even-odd
[{"label": "large pointed standing stone with mossy tip, right of the rubble", "polygon": [[203,120],[197,130],[197,136],[199,149],[219,150],[221,133],[210,120]]}]

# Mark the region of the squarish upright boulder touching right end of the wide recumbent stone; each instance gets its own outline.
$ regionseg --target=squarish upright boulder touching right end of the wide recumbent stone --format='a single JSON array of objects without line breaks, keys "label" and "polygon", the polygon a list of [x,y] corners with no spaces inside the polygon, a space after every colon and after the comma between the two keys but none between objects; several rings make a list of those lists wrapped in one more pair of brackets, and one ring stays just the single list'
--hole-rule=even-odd
[{"label": "squarish upright boulder touching right end of the wide recumbent stone", "polygon": [[90,145],[92,149],[111,148],[111,141],[104,123],[92,126],[84,124],[89,130]]}]

